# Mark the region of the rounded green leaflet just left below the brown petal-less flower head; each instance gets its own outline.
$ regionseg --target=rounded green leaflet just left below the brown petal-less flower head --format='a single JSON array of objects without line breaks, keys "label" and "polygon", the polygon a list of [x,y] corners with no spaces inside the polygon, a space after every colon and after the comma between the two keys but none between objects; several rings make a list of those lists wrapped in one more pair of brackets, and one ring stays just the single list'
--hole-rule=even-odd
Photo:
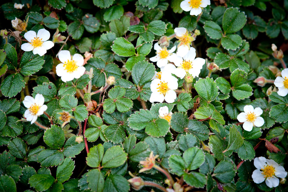
[{"label": "rounded green leaflet just left below the brown petal-less flower head", "polygon": [[58,125],[51,125],[51,128],[45,131],[43,140],[49,147],[61,149],[65,142],[64,131]]}]

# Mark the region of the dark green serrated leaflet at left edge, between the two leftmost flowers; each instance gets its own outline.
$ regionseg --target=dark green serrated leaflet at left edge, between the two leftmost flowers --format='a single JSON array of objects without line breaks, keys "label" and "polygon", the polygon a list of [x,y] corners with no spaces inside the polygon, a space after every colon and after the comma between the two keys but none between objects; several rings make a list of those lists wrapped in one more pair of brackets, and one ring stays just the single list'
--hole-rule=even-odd
[{"label": "dark green serrated leaflet at left edge, between the two leftmost flowers", "polygon": [[1,83],[1,92],[6,97],[16,96],[22,88],[25,87],[25,81],[19,73],[11,74]]}]

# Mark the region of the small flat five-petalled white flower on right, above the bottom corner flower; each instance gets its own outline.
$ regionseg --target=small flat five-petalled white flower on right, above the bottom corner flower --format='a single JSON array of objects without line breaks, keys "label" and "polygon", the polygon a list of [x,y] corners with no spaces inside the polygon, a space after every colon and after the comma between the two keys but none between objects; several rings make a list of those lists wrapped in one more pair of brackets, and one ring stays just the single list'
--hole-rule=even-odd
[{"label": "small flat five-petalled white flower on right, above the bottom corner flower", "polygon": [[246,131],[251,131],[253,126],[261,127],[264,125],[264,119],[259,117],[263,113],[260,107],[254,107],[252,105],[246,105],[244,107],[244,112],[241,112],[237,119],[239,122],[243,123],[243,129]]}]

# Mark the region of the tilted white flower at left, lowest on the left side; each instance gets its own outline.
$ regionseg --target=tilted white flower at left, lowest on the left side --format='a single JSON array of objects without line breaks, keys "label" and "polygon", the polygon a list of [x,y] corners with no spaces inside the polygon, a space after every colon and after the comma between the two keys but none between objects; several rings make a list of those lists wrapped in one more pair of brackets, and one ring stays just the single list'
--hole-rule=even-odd
[{"label": "tilted white flower at left, lowest on the left side", "polygon": [[31,124],[35,123],[39,115],[43,115],[47,110],[47,105],[44,105],[44,97],[41,94],[37,94],[35,99],[31,96],[26,96],[23,101],[27,110],[24,113],[24,117],[27,121],[31,121]]}]

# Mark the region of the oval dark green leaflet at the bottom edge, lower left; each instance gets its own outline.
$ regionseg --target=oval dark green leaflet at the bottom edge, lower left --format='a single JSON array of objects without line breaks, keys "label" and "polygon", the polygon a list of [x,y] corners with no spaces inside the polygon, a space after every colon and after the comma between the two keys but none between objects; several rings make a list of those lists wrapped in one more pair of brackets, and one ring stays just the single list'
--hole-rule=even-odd
[{"label": "oval dark green leaflet at the bottom edge, lower left", "polygon": [[37,191],[47,190],[53,183],[55,179],[51,175],[46,174],[35,174],[29,178],[29,184],[34,187]]}]

